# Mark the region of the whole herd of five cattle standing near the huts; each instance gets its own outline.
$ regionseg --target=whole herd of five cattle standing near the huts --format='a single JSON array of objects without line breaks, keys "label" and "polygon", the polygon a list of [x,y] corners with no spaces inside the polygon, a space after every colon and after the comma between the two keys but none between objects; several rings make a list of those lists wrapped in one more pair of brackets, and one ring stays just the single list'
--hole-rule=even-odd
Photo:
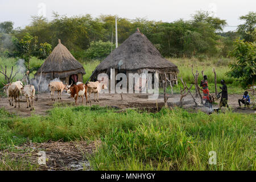
[{"label": "whole herd of five cattle standing near the huts", "polygon": [[[84,96],[86,99],[86,105],[90,101],[90,94],[94,93],[94,102],[98,101],[98,94],[101,92],[101,89],[107,89],[106,85],[103,80],[98,80],[96,82],[86,82],[86,84],[82,82],[71,83],[71,85],[64,84],[61,81],[52,81],[49,83],[48,87],[51,92],[51,99],[55,101],[54,93],[58,93],[58,100],[61,100],[61,93],[67,92],[70,94],[72,98],[75,99],[75,104],[77,106],[77,99],[78,97],[82,98],[82,104],[84,101]],[[3,84],[3,83],[2,83]],[[13,100],[15,100],[15,106],[18,100],[18,107],[20,107],[19,102],[22,95],[26,97],[27,101],[27,108],[31,107],[30,110],[34,110],[34,100],[35,100],[35,87],[34,85],[23,85],[21,81],[11,82],[9,84],[3,84],[3,92],[7,94],[9,103],[11,106],[14,106]],[[88,92],[88,93],[87,93]],[[97,100],[96,100],[97,94]]]}]

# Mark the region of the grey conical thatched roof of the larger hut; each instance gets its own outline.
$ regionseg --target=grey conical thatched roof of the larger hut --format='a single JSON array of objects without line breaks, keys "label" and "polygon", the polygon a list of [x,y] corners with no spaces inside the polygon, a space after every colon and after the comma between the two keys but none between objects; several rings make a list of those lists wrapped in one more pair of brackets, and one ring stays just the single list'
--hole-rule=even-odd
[{"label": "grey conical thatched roof of the larger hut", "polygon": [[[139,31],[129,36],[118,48],[116,48],[94,70],[92,81],[97,80],[100,73],[107,73],[110,78],[110,68],[117,73],[138,73],[145,70],[147,73],[159,73],[159,81],[165,80],[165,74],[172,84],[177,84],[177,66],[164,59],[158,49]],[[128,75],[127,75],[128,77]]]}]

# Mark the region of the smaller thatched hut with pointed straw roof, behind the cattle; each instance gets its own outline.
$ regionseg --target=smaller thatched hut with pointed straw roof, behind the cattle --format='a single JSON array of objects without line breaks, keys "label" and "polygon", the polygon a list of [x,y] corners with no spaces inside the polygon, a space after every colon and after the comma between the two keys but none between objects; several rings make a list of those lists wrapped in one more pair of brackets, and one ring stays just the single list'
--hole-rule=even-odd
[{"label": "smaller thatched hut with pointed straw roof, behind the cattle", "polygon": [[35,77],[42,77],[52,80],[60,78],[61,81],[71,84],[71,81],[82,82],[82,75],[85,74],[84,67],[75,59],[68,49],[59,44],[53,49],[52,53],[47,57],[42,66],[38,69]]}]

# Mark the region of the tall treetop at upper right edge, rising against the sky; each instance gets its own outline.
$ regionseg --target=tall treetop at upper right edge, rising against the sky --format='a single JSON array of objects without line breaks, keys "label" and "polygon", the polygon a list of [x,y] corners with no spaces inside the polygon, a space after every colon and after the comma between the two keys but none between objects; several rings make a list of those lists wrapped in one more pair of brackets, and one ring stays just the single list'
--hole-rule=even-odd
[{"label": "tall treetop at upper right edge, rising against the sky", "polygon": [[240,16],[241,20],[245,20],[245,23],[238,25],[237,31],[240,32],[242,38],[247,42],[253,42],[253,31],[256,27],[256,13],[251,11],[247,15]]}]

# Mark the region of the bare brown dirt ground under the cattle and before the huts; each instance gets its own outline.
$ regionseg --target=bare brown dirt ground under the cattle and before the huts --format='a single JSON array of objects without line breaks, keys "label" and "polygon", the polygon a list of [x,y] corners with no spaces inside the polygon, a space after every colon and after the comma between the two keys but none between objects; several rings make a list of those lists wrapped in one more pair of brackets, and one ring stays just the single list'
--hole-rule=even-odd
[{"label": "bare brown dirt ground under the cattle and before the huts", "polygon": [[[168,96],[168,106],[175,106],[179,105],[180,94],[174,94]],[[115,107],[120,110],[125,110],[127,108],[139,108],[147,111],[157,111],[164,105],[163,95],[159,95],[158,100],[148,100],[148,94],[122,94],[123,100],[121,100],[120,94],[106,94],[102,93],[99,96],[100,102],[94,102],[94,96],[90,97],[92,100],[92,105],[100,105],[100,106],[110,106]],[[237,109],[238,107],[238,99],[242,98],[241,95],[232,94],[229,95],[228,105],[234,111],[238,113],[251,113],[255,114],[255,110],[246,108],[244,109]],[[71,105],[75,106],[74,98],[69,97],[67,93],[63,93],[61,100],[57,100],[57,93],[55,93],[55,100],[51,100],[51,94],[47,93],[40,93],[37,94],[37,100],[34,101],[34,111],[30,111],[30,108],[27,107],[27,103],[25,102],[24,97],[22,97],[22,102],[20,102],[20,108],[14,108],[13,106],[9,105],[9,101],[7,98],[0,98],[0,108],[5,107],[6,110],[10,111],[11,113],[18,114],[22,117],[28,117],[31,114],[39,114],[39,115],[46,115],[47,111],[53,107],[55,102],[58,102],[60,105]],[[196,102],[200,103],[200,98],[196,98]],[[217,100],[216,103],[218,104],[220,100]],[[208,108],[203,106],[195,106],[194,102],[192,101],[192,97],[190,95],[184,97],[183,99],[183,107],[188,111],[197,111],[201,110],[205,113],[208,113]],[[81,98],[79,98],[78,104],[81,105]],[[85,105],[85,100],[84,100]],[[89,105],[89,104],[88,104]],[[213,105],[213,108],[217,108],[218,105]]]}]

